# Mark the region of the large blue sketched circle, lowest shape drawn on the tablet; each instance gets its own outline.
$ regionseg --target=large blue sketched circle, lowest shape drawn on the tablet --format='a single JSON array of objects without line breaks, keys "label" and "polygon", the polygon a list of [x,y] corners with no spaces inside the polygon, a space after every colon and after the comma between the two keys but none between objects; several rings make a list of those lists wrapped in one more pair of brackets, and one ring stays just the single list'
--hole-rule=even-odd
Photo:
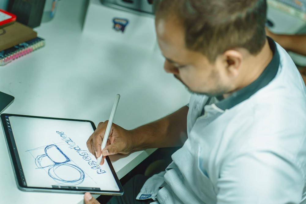
[{"label": "large blue sketched circle, lowest shape drawn on the tablet", "polygon": [[55,180],[75,185],[82,183],[85,178],[83,170],[72,164],[52,165],[48,174]]}]

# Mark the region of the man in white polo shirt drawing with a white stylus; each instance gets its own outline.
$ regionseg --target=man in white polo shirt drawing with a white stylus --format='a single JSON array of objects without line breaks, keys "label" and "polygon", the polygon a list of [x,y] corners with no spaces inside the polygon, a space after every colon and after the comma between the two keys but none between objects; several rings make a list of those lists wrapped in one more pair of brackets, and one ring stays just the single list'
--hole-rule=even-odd
[{"label": "man in white polo shirt drawing with a white stylus", "polygon": [[[164,69],[192,91],[188,106],[133,130],[112,124],[102,154],[183,145],[164,172],[137,176],[109,203],[302,203],[306,88],[265,34],[265,0],[162,0]],[[96,157],[107,121],[87,146]],[[187,133],[187,137],[185,136]],[[97,203],[89,193],[85,203]]]}]

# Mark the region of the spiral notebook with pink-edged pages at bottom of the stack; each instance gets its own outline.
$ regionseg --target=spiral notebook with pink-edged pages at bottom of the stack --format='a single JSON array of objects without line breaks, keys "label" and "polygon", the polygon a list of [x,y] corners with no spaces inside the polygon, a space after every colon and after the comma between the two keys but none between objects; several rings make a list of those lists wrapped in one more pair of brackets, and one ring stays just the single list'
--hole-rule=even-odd
[{"label": "spiral notebook with pink-edged pages at bottom of the stack", "polygon": [[45,45],[45,40],[36,37],[32,40],[25,41],[6,50],[0,51],[0,65],[6,65],[7,63],[29,54],[34,50],[37,50]]}]

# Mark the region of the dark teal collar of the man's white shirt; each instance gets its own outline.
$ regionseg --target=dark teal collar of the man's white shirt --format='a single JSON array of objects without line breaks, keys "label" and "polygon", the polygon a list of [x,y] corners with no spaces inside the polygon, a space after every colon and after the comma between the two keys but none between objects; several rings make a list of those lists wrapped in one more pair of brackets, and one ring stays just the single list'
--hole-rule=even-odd
[{"label": "dark teal collar of the man's white shirt", "polygon": [[[269,37],[267,38],[268,38],[269,46],[273,52],[273,57],[270,63],[267,65],[267,67],[263,70],[261,75],[254,82],[234,92],[229,97],[222,99],[219,102],[215,103],[215,105],[218,108],[222,110],[226,110],[226,109],[232,108],[233,106],[236,106],[242,101],[250,98],[259,89],[265,87],[268,83],[271,82],[271,80],[274,79],[278,71],[280,58],[279,58],[278,50],[276,49],[275,42],[271,38]],[[220,97],[217,97],[217,98],[221,99]]]}]

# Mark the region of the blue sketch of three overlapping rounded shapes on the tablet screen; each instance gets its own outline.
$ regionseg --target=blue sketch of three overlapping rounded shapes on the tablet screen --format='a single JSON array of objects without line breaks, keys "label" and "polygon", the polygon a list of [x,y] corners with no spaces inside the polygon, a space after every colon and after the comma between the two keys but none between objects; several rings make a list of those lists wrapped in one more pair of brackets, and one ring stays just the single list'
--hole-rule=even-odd
[{"label": "blue sketch of three overlapping rounded shapes on the tablet screen", "polygon": [[36,166],[39,169],[49,167],[48,175],[61,184],[81,184],[85,178],[84,171],[76,165],[69,164],[69,161],[71,160],[55,144],[47,145],[45,154],[35,158]]}]

